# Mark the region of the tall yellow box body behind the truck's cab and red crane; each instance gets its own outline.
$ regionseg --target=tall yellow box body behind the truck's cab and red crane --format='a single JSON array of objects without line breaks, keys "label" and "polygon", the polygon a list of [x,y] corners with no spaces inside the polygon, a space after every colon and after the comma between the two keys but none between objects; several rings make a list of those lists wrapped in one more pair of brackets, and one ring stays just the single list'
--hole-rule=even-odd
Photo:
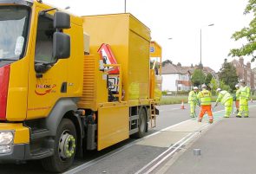
[{"label": "tall yellow box body behind the truck's cab and red crane", "polygon": [[[124,100],[129,106],[148,103],[150,30],[130,14],[83,16],[90,54],[108,43],[122,69]],[[111,35],[110,35],[111,34]]]}]

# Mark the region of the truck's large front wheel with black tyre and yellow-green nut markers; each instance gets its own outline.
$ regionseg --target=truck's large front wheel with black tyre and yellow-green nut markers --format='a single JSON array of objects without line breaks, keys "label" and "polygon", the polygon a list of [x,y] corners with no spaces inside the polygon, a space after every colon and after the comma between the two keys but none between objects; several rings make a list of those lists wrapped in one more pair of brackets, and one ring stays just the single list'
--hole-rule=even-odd
[{"label": "truck's large front wheel with black tyre and yellow-green nut markers", "polygon": [[43,158],[46,171],[63,172],[69,169],[75,158],[76,131],[70,119],[62,119],[57,128],[54,155]]}]

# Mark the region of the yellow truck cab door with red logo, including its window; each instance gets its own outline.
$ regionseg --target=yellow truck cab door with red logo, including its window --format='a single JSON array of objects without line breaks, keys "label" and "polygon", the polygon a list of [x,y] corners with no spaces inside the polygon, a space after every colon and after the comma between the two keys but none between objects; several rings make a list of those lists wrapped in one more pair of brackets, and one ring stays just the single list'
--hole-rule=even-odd
[{"label": "yellow truck cab door with red logo, including its window", "polygon": [[[43,9],[37,8],[36,14]],[[30,61],[27,119],[49,115],[56,101],[67,93],[68,62],[53,58],[53,16],[38,15]]]}]

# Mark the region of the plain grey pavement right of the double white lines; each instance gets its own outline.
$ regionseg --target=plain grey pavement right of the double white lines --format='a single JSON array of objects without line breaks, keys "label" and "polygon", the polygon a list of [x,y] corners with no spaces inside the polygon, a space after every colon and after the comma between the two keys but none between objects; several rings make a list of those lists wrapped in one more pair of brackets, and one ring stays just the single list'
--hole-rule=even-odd
[{"label": "plain grey pavement right of the double white lines", "polygon": [[[216,114],[215,114],[216,115]],[[168,159],[157,174],[255,174],[256,106],[249,118],[219,118],[200,137]],[[200,155],[194,155],[200,149]]]}]

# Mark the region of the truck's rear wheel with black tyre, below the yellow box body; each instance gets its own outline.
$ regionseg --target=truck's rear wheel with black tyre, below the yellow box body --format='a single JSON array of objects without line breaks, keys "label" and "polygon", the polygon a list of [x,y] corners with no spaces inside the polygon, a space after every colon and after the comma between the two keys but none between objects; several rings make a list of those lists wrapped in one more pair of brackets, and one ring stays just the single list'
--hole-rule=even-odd
[{"label": "truck's rear wheel with black tyre, below the yellow box body", "polygon": [[139,123],[138,123],[138,128],[139,132],[136,132],[133,137],[135,139],[141,139],[142,137],[145,136],[145,132],[147,131],[147,113],[144,108],[141,108],[139,112]]}]

